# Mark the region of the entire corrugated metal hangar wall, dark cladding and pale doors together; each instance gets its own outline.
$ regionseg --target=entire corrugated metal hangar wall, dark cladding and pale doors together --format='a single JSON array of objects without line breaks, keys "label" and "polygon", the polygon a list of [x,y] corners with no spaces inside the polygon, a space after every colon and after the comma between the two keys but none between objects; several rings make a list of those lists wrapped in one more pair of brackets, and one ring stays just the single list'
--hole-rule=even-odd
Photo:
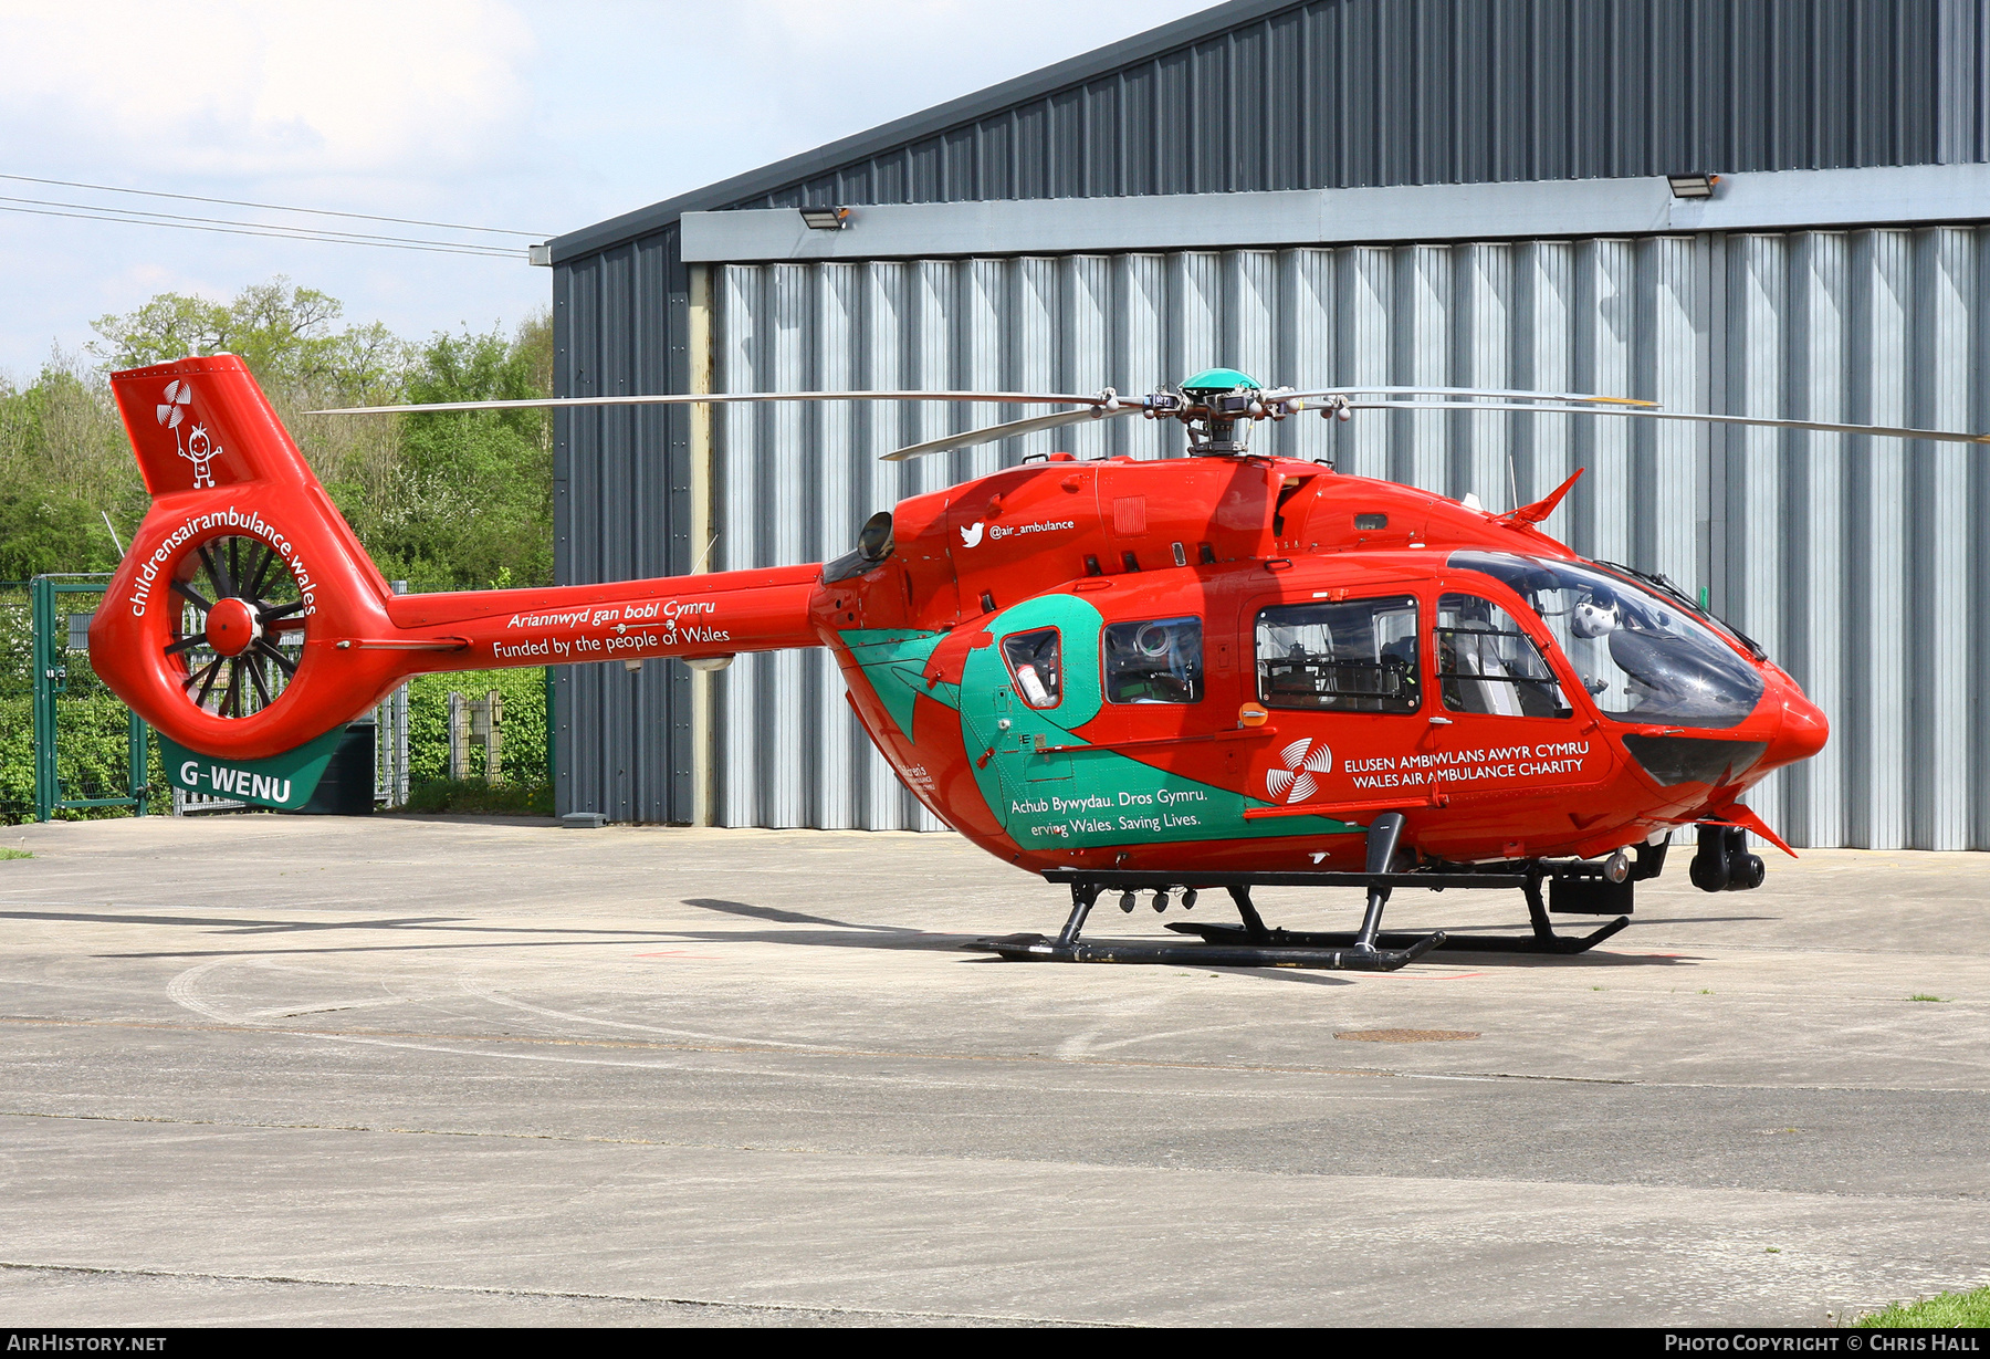
[{"label": "entire corrugated metal hangar wall, dark cladding and pale doors together", "polygon": [[[818,263],[718,257],[693,267],[683,263],[681,235],[685,213],[796,201],[1982,161],[1984,10],[1978,0],[1224,6],[557,241],[561,392],[702,390],[706,382],[714,390],[1001,382],[1134,392],[1228,362],[1266,382],[1620,390],[1682,410],[1984,428],[1990,410],[1978,374],[1990,275],[1978,267],[1984,233],[1972,225],[1586,235],[1582,213],[1570,211],[1566,235],[1550,223],[1530,239],[1387,243],[1383,235],[1377,245],[1051,255],[1023,253],[1031,247],[1019,237],[1009,249],[987,241],[985,257],[981,249]],[[1524,42],[1512,36],[1514,14],[1526,18]],[[1415,92],[1457,86],[1459,54],[1473,50],[1459,36],[1473,38],[1473,24],[1487,24],[1512,54],[1494,62],[1485,97],[1502,109],[1500,125],[1536,151],[1473,159],[1479,153],[1467,151],[1479,145],[1483,119],[1459,103],[1479,97],[1471,90],[1437,101],[1447,109],[1441,117],[1437,103],[1417,103]],[[1349,48],[1317,42],[1335,26],[1397,34],[1375,38],[1379,70],[1393,80],[1373,82],[1393,92],[1375,96],[1393,131],[1375,141],[1375,123],[1355,137],[1375,151],[1367,161],[1323,155],[1321,147],[1347,145],[1353,125],[1325,127],[1307,113],[1297,121],[1315,127],[1307,133],[1313,149],[1276,175],[1260,173],[1276,157],[1258,149],[1292,135],[1278,123],[1286,117],[1278,109],[1292,107],[1278,92],[1311,92],[1317,105],[1319,90],[1341,90],[1343,103],[1353,90]],[[1299,44],[1299,66],[1288,60],[1292,44],[1262,42],[1280,32],[1311,34],[1311,46]],[[1596,66],[1576,62],[1578,48],[1608,58],[1602,64],[1616,84],[1600,94],[1570,84],[1572,72]],[[1216,50],[1222,62],[1208,56]],[[1327,52],[1337,56],[1327,60]],[[1682,70],[1666,56],[1678,52],[1701,58],[1684,70],[1727,72],[1725,82],[1626,74]],[[1057,131],[1059,99],[1071,105],[1073,92],[1096,92],[1100,82],[1122,92],[1140,72],[1174,70],[1170,62],[1188,86],[1166,103],[1192,107],[1186,121],[1120,115]],[[1554,70],[1564,78],[1550,80]],[[1270,121],[1250,115],[1248,99],[1240,103],[1252,82],[1272,86],[1258,105],[1276,113]],[[1843,97],[1849,88],[1871,94]],[[1614,97],[1610,107],[1624,115],[1554,119],[1556,109],[1592,96]],[[1087,99],[1071,107],[1098,107]],[[1114,99],[1116,109],[1128,107],[1122,94]],[[1029,109],[1041,117],[1031,121]],[[1423,109],[1411,117],[1423,131],[1401,143],[1405,109]],[[1094,159],[1085,163],[1116,169],[1081,181],[1059,181],[1049,169],[989,181],[995,133],[987,129],[1003,119],[1015,135],[1039,129],[1041,151],[1053,159],[1089,147]],[[1648,131],[1654,119],[1660,131]],[[1220,137],[1208,141],[1212,123]],[[1614,149],[1540,159],[1542,127],[1564,127],[1564,147],[1602,137],[1596,145]],[[1672,145],[1699,149],[1703,163],[1668,163],[1662,143],[1674,133],[1666,127],[1684,137]],[[1009,159],[995,163],[1039,163],[1023,155],[1039,131],[1023,141],[1003,133],[1011,135]],[[1192,135],[1206,137],[1208,153],[1184,161],[1184,143],[1170,137]],[[1451,151],[1429,151],[1435,143]],[[947,145],[967,149],[953,157]],[[1118,167],[1158,163],[1134,153],[1150,145],[1160,145],[1158,161],[1202,169],[1180,183],[1128,187]],[[939,147],[939,159],[921,159],[919,147]],[[919,171],[967,163],[983,167],[979,177]],[[1218,165],[1230,167],[1228,179],[1214,175]],[[1248,165],[1260,167],[1250,171],[1256,179],[1240,169]],[[1558,195],[1578,185],[1530,187],[1552,215]],[[1885,215],[1887,205],[1875,211]],[[1990,199],[1966,215],[1990,219]],[[1433,235],[1459,235],[1451,227]],[[565,416],[555,466],[559,579],[822,559],[844,551],[862,517],[897,495],[1051,446],[1039,436],[907,468],[876,464],[876,454],[897,444],[965,428],[947,424],[961,420],[937,406],[784,408],[728,412],[706,432],[687,412]],[[1990,631],[1990,563],[1974,549],[1978,521],[1990,513],[1978,456],[1819,434],[1594,424],[1375,412],[1341,428],[1301,418],[1260,438],[1276,452],[1333,458],[1345,472],[1453,495],[1477,491],[1489,505],[1532,497],[1586,466],[1590,474],[1550,529],[1586,555],[1707,589],[1715,609],[1757,635],[1833,716],[1825,754],[1755,800],[1771,822],[1797,844],[1990,846],[1990,732],[1974,718],[1986,710],[1986,680],[1964,661]],[[1170,440],[1178,436],[1166,426],[1116,422],[1081,426],[1063,444],[1081,456],[1160,456],[1172,452]],[[710,474],[708,505],[700,468]],[[663,663],[637,675],[619,665],[569,667],[559,688],[561,810],[736,826],[933,826],[870,750],[820,653],[742,657],[698,684]]]}]

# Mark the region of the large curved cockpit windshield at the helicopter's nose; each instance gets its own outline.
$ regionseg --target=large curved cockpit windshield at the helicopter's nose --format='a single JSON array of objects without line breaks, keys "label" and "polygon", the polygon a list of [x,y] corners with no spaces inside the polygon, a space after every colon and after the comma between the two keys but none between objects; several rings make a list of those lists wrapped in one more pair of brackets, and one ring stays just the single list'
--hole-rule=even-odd
[{"label": "large curved cockpit windshield at the helicopter's nose", "polygon": [[1761,700],[1761,675],[1688,609],[1574,561],[1459,551],[1451,565],[1512,587],[1554,633],[1606,716],[1733,726]]}]

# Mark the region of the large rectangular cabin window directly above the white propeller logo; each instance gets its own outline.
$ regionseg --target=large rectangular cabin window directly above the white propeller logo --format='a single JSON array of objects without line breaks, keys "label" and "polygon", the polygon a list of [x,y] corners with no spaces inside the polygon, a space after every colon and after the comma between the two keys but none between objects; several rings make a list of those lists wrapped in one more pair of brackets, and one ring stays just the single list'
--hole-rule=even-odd
[{"label": "large rectangular cabin window directly above the white propeller logo", "polygon": [[1415,712],[1417,601],[1341,599],[1258,613],[1258,698],[1268,708]]}]

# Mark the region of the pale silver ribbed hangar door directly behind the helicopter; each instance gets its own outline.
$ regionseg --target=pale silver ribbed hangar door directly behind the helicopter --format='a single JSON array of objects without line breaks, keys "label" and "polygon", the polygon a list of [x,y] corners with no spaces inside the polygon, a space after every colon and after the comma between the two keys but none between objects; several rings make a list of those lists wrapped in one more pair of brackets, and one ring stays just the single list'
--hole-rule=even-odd
[{"label": "pale silver ribbed hangar door directly behind the helicopter", "polygon": [[[718,271],[718,390],[991,386],[1144,392],[1232,362],[1264,382],[1514,384],[1678,410],[1984,428],[1990,235],[1976,227],[1502,241]],[[878,464],[945,408],[718,424],[718,565],[818,561],[899,495],[1061,442],[1180,452],[1178,428],[1077,426]],[[989,414],[993,420],[995,416]],[[1990,848],[1990,519],[1982,460],[1831,434],[1578,416],[1367,412],[1260,428],[1502,509],[1586,476],[1550,529],[1705,591],[1825,706],[1817,760],[1751,798],[1795,844]],[[806,456],[804,456],[806,450]],[[734,826],[931,828],[842,706],[822,653],[718,679]]]}]

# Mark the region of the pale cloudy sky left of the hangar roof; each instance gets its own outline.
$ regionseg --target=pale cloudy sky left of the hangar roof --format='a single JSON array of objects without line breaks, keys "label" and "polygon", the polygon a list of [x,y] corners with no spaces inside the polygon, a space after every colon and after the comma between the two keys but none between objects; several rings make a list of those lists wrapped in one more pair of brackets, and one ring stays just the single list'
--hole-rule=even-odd
[{"label": "pale cloudy sky left of the hangar roof", "polygon": [[[0,175],[543,239],[973,94],[1198,0],[0,0]],[[30,199],[30,201],[24,201]],[[0,209],[277,213],[0,179]],[[342,225],[318,221],[316,225]],[[356,231],[404,229],[344,223]],[[523,243],[525,237],[470,237]],[[0,211],[0,376],[157,292],[277,275],[398,334],[511,328],[551,271]]]}]

